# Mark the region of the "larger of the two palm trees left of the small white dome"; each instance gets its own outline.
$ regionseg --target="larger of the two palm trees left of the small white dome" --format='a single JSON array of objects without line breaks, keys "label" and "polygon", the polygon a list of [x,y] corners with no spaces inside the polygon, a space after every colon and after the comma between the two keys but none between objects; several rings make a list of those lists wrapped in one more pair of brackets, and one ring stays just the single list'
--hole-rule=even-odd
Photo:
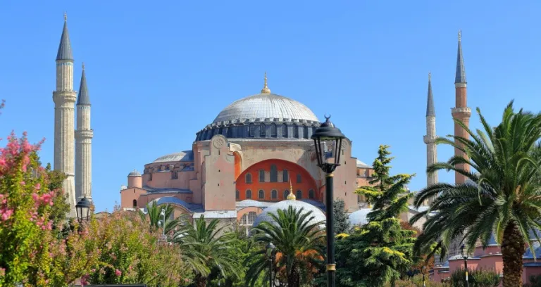
[{"label": "larger of the two palm trees left of the small white dome", "polygon": [[225,277],[238,276],[235,257],[231,256],[235,234],[224,233],[226,226],[218,227],[218,219],[207,224],[204,216],[194,219],[194,224],[181,227],[173,238],[182,256],[195,273],[195,286],[206,286],[211,270],[217,268]]}]

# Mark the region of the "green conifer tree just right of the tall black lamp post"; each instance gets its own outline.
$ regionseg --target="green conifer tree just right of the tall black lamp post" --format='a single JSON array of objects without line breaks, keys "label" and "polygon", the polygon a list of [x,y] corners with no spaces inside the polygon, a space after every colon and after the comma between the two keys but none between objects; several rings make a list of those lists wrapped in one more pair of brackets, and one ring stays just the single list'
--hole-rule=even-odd
[{"label": "green conifer tree just right of the tall black lamp post", "polygon": [[373,162],[372,186],[358,193],[373,204],[368,224],[337,241],[337,282],[340,286],[392,285],[413,263],[411,249],[415,231],[402,229],[401,212],[407,210],[410,193],[406,189],[414,174],[390,175],[388,146],[380,146]]}]

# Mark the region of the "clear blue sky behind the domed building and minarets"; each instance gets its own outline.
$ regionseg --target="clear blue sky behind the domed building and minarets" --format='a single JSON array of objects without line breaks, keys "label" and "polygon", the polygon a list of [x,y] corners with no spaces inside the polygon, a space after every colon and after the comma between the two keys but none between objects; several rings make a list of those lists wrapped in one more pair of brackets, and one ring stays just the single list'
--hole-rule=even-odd
[{"label": "clear blue sky behind the domed building and minarets", "polygon": [[[331,4],[332,3],[332,4]],[[93,196],[111,210],[134,168],[188,150],[229,103],[261,90],[325,113],[371,163],[392,146],[394,173],[425,185],[425,109],[433,73],[437,134],[453,132],[456,34],[468,106],[492,124],[512,98],[541,108],[536,1],[2,1],[0,136],[46,138],[53,160],[55,57],[68,12],[75,89],[87,70]],[[471,126],[479,127],[472,116]],[[1,144],[2,146],[5,145]],[[452,148],[440,146],[439,160]],[[453,181],[440,173],[440,181]]]}]

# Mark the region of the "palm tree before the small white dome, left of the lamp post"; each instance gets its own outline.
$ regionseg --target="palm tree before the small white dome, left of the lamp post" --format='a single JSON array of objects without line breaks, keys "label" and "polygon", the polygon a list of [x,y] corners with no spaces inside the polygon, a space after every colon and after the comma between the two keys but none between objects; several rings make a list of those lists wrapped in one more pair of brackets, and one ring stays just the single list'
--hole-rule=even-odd
[{"label": "palm tree before the small white dome, left of the lamp post", "polygon": [[323,222],[313,222],[312,212],[304,212],[290,206],[287,210],[269,213],[273,222],[261,222],[254,231],[254,242],[261,244],[261,249],[252,253],[247,260],[250,264],[246,274],[249,286],[254,286],[263,273],[268,281],[268,257],[265,246],[275,245],[275,272],[287,280],[288,287],[298,287],[308,283],[316,267],[323,262],[323,238],[325,232],[319,227]]}]

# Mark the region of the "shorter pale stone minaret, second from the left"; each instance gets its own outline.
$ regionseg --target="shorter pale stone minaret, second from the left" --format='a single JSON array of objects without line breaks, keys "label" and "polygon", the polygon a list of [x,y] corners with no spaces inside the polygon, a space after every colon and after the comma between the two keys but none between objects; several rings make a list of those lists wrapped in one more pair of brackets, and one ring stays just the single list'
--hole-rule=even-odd
[{"label": "shorter pale stone minaret, second from the left", "polygon": [[77,97],[77,130],[75,131],[75,196],[77,200],[92,199],[92,137],[90,128],[90,98],[82,64],[81,85]]}]

